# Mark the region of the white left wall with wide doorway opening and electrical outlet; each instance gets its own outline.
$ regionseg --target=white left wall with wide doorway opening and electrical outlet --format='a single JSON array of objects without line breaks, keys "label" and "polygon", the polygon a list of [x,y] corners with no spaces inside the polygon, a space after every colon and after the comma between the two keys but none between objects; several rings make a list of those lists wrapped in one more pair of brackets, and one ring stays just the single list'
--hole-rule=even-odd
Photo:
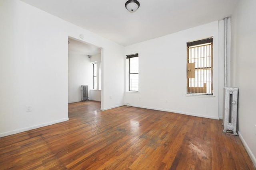
[{"label": "white left wall with wide doorway opening and electrical outlet", "polygon": [[121,45],[19,0],[0,0],[0,25],[0,137],[68,120],[69,36],[104,49],[101,109],[123,104]]}]

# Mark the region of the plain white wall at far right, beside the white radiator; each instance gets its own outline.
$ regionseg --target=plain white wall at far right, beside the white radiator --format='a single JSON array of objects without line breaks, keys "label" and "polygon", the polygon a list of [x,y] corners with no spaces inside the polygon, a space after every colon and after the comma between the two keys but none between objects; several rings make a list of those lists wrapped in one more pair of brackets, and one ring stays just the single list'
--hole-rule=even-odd
[{"label": "plain white wall at far right, beside the white radiator", "polygon": [[238,134],[256,166],[256,1],[239,1],[232,15],[232,86],[239,88]]}]

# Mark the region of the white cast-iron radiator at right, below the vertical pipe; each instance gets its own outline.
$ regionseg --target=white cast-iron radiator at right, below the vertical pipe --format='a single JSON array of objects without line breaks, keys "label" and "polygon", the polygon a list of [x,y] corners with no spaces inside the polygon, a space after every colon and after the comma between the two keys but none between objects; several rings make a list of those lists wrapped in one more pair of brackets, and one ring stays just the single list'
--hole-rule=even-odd
[{"label": "white cast-iron radiator at right, below the vertical pipe", "polygon": [[223,132],[232,131],[234,135],[238,135],[236,132],[238,88],[224,87],[224,89],[225,111],[223,116]]}]

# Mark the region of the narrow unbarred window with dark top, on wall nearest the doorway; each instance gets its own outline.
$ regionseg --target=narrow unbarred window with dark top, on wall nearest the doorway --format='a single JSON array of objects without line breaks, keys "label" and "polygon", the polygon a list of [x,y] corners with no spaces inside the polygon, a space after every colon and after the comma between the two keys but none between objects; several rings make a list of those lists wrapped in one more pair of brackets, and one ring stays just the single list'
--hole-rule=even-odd
[{"label": "narrow unbarred window with dark top, on wall nearest the doorway", "polygon": [[129,61],[129,91],[139,91],[139,57],[137,54],[127,55]]}]

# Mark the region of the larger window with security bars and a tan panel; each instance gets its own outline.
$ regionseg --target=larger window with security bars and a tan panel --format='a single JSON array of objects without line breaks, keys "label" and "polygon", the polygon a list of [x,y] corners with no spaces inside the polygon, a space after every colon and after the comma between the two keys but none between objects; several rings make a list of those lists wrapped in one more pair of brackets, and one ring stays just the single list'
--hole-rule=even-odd
[{"label": "larger window with security bars and a tan panel", "polygon": [[187,42],[187,93],[212,95],[213,38]]}]

